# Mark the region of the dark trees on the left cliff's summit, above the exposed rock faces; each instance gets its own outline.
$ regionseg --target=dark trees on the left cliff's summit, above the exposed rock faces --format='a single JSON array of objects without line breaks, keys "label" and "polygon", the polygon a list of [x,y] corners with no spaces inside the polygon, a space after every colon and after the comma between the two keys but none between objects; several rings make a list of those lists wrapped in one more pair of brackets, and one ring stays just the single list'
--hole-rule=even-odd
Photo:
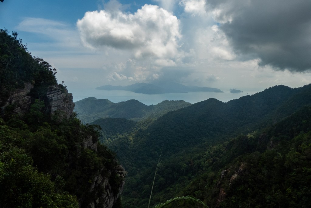
[{"label": "dark trees on the left cliff's summit, above the exposed rock faces", "polygon": [[15,89],[24,87],[26,82],[35,85],[32,91],[33,99],[38,94],[44,96],[44,88],[57,84],[56,69],[39,57],[32,57],[17,32],[12,36],[7,30],[0,29],[0,106]]}]

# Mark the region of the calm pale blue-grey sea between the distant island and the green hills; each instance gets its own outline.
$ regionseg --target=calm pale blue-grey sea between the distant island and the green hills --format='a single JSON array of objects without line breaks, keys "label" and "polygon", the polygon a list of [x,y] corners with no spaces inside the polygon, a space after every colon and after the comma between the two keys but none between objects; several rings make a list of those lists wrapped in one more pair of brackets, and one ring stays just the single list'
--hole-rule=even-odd
[{"label": "calm pale blue-grey sea between the distant island and the green hills", "polygon": [[108,99],[117,103],[131,99],[138,100],[146,105],[156,105],[164,100],[183,100],[190,103],[197,103],[209,98],[216,98],[222,102],[228,102],[245,95],[252,95],[256,92],[188,92],[188,93],[165,93],[165,94],[141,94],[123,90],[96,90],[96,89],[68,89],[73,95],[73,102],[86,97],[96,97],[97,99]]}]

